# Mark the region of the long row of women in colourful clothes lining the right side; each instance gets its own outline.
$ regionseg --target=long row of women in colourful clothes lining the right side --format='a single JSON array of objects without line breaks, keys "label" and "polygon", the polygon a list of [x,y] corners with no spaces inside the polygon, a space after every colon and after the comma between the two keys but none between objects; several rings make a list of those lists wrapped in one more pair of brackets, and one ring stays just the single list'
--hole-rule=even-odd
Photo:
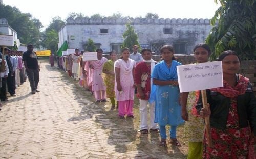
[{"label": "long row of women in colourful clothes lining the right side", "polygon": [[[205,109],[201,107],[200,91],[180,93],[177,66],[182,64],[176,60],[172,46],[165,45],[160,49],[162,60],[159,62],[152,59],[150,49],[142,49],[141,54],[136,49],[138,46],[135,45],[132,56],[129,48],[122,49],[120,59],[115,51],[111,51],[110,60],[102,56],[102,49],[97,49],[97,61],[83,61],[81,54],[86,52],[79,54],[76,49],[75,54],[59,58],[58,64],[70,76],[79,78],[80,84],[91,91],[96,102],[107,102],[110,98],[111,109],[118,109],[119,119],[135,118],[133,105],[137,93],[140,132],[159,131],[162,147],[168,145],[166,125],[170,125],[170,144],[182,146],[176,131],[177,126],[185,122],[187,158],[255,158],[256,99],[248,78],[238,74],[241,61],[236,52],[227,50],[219,56],[223,87],[206,90],[209,109]],[[195,64],[208,62],[210,54],[208,45],[196,45]],[[132,57],[141,60],[135,61]],[[211,147],[207,145],[205,135],[204,118],[207,116]]]}]

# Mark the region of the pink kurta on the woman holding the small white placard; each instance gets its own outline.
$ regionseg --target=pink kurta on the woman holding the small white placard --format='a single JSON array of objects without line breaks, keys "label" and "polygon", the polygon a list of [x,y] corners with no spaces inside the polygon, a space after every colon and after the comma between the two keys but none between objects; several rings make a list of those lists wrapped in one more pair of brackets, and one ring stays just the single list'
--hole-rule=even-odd
[{"label": "pink kurta on the woman holding the small white placard", "polygon": [[101,60],[97,61],[88,61],[86,63],[86,68],[91,65],[93,67],[92,69],[92,91],[100,91],[100,90],[106,90],[103,78],[101,76],[104,63],[107,61],[105,57],[102,57]]}]

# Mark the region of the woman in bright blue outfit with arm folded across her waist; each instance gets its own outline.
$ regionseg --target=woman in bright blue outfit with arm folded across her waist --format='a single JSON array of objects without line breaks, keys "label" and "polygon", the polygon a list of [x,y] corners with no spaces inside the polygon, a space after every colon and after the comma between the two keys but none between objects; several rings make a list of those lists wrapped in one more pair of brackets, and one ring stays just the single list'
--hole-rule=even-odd
[{"label": "woman in bright blue outfit with arm folded across her waist", "polygon": [[165,45],[160,49],[163,61],[155,65],[151,77],[153,84],[157,86],[151,94],[156,94],[155,122],[160,127],[160,146],[166,147],[166,128],[170,125],[171,144],[181,146],[176,138],[177,126],[183,123],[181,118],[181,107],[179,105],[180,91],[178,87],[177,69],[181,63],[174,57],[174,49],[170,45]]}]

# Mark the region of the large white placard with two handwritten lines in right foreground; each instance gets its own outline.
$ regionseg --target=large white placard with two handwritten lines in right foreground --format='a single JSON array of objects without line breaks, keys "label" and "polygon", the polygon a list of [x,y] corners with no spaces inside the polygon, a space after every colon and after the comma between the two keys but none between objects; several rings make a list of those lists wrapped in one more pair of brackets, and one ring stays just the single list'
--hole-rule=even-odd
[{"label": "large white placard with two handwritten lines in right foreground", "polygon": [[221,61],[177,66],[180,92],[223,87]]}]

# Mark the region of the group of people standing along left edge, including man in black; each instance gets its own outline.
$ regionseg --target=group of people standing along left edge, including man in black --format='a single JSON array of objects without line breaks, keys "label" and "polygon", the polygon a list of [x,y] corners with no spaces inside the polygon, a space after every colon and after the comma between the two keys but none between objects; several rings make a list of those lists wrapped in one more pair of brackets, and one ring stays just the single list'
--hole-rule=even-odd
[{"label": "group of people standing along left edge, including man in black", "polygon": [[[27,45],[26,52],[11,50],[7,47],[1,49],[0,55],[0,99],[9,101],[7,92],[10,96],[17,96],[16,89],[26,82],[29,78],[31,93],[40,92],[37,90],[39,82],[38,57],[33,52],[33,45]],[[0,109],[2,103],[0,102]]]}]

